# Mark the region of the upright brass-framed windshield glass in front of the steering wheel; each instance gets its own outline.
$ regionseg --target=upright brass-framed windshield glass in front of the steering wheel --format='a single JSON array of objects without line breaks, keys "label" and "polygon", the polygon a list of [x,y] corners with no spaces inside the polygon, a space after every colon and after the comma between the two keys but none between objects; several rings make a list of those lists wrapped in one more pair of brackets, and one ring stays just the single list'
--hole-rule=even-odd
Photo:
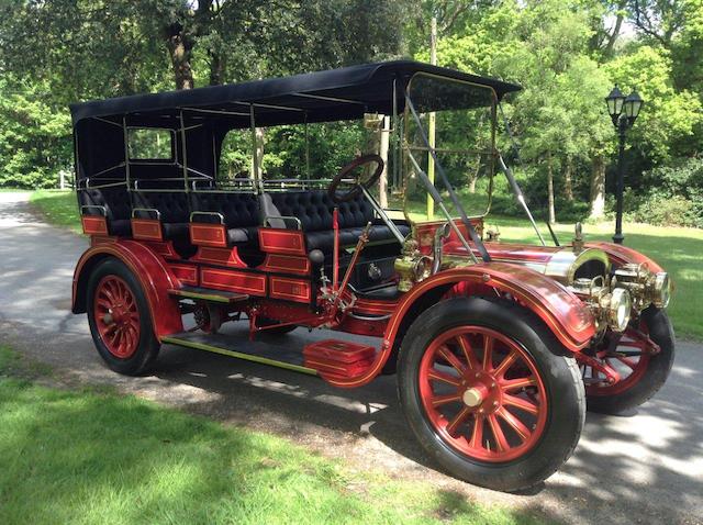
[{"label": "upright brass-framed windshield glass in front of the steering wheel", "polygon": [[486,86],[416,75],[408,93],[420,120],[419,124],[410,109],[405,110],[403,171],[409,219],[426,221],[443,217],[432,203],[413,159],[431,179],[434,178],[435,187],[445,198],[445,205],[456,215],[423,134],[434,145],[437,160],[467,215],[484,215],[490,208],[494,174],[493,90]]}]

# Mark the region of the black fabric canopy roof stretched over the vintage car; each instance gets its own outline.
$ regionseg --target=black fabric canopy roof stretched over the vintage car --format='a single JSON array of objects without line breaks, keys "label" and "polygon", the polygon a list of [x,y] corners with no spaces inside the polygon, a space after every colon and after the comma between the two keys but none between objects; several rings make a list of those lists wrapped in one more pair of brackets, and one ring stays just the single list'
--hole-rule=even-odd
[{"label": "black fabric canopy roof stretched over the vintage car", "polygon": [[124,115],[129,115],[134,125],[166,123],[183,110],[190,119],[216,111],[220,118],[230,121],[230,126],[245,127],[249,125],[250,104],[255,105],[259,125],[358,119],[365,112],[392,112],[394,80],[397,108],[402,111],[404,89],[417,72],[490,87],[499,100],[505,93],[521,89],[513,83],[455,69],[395,60],[226,86],[94,100],[71,104],[70,111],[74,125],[90,118],[114,120]]}]

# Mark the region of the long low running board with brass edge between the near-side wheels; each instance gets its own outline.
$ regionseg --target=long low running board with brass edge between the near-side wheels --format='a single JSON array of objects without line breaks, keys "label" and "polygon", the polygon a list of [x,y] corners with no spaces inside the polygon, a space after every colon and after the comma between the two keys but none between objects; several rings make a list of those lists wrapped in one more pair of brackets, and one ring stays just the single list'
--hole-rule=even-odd
[{"label": "long low running board with brass edge between the near-side wheels", "polygon": [[[181,332],[161,337],[161,343],[185,346],[197,350],[212,351],[271,367],[284,368],[300,373],[317,376],[317,370],[304,366],[302,351],[290,350],[288,346],[276,347],[265,343],[252,343],[239,337],[222,334]],[[248,347],[246,349],[242,346]],[[236,350],[233,348],[237,348]]]}]

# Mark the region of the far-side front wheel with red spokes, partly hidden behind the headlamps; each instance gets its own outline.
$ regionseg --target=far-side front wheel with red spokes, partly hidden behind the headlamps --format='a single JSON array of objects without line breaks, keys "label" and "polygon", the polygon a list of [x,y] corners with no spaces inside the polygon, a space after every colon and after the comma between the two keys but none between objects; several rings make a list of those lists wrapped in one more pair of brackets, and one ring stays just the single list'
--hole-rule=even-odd
[{"label": "far-side front wheel with red spokes, partly hidden behind the headlamps", "polygon": [[[650,353],[652,343],[659,346],[657,354]],[[674,336],[667,312],[649,306],[637,326],[611,334],[592,357],[593,366],[580,365],[589,411],[617,414],[645,403],[667,381],[673,365]],[[614,370],[620,380],[607,383],[599,367]]]}]

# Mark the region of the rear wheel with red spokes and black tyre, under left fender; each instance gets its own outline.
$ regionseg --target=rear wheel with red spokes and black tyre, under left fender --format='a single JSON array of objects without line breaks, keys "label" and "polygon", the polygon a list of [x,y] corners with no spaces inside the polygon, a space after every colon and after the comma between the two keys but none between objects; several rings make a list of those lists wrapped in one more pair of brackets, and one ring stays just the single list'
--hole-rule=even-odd
[{"label": "rear wheel with red spokes and black tyre, under left fender", "polygon": [[90,333],[100,357],[119,373],[144,373],[158,356],[152,314],[142,286],[120,260],[100,262],[88,279]]}]

